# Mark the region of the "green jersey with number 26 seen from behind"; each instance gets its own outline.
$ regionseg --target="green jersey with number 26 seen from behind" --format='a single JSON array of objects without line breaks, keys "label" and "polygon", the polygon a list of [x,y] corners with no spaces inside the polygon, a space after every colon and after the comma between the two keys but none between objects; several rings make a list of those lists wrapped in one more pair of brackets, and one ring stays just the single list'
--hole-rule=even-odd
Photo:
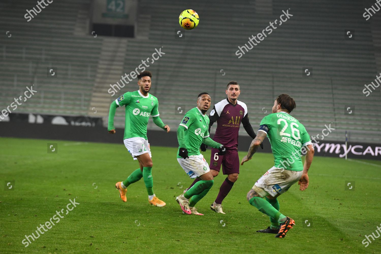
[{"label": "green jersey with number 26 seen from behind", "polygon": [[[266,125],[266,126],[264,126]],[[259,131],[269,137],[274,155],[274,166],[293,171],[302,171],[302,147],[312,144],[304,125],[286,112],[272,113],[261,121]]]}]

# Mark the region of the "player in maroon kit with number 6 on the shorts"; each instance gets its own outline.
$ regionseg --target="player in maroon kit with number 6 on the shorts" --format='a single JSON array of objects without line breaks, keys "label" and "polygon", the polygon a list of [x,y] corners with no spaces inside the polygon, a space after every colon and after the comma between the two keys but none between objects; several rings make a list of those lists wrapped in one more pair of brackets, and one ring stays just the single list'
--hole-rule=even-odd
[{"label": "player in maroon kit with number 6 on the shorts", "polygon": [[[210,206],[210,209],[222,214],[225,214],[222,211],[222,201],[238,179],[240,160],[237,147],[241,122],[249,136],[252,139],[256,137],[253,127],[250,125],[247,106],[238,100],[238,96],[241,93],[239,84],[235,81],[230,81],[227,84],[225,93],[227,94],[227,98],[215,104],[209,116],[209,131],[213,123],[217,122],[217,129],[213,140],[225,144],[227,149],[225,155],[218,155],[218,149],[212,148],[209,164],[210,172],[213,177],[218,176],[221,164],[223,174],[227,175],[225,181],[219,188],[216,200]],[[263,149],[262,144],[261,148]],[[207,146],[202,144],[201,151],[205,152],[206,150]],[[190,189],[197,181],[200,181],[200,179],[196,178],[192,185],[186,190]]]}]

